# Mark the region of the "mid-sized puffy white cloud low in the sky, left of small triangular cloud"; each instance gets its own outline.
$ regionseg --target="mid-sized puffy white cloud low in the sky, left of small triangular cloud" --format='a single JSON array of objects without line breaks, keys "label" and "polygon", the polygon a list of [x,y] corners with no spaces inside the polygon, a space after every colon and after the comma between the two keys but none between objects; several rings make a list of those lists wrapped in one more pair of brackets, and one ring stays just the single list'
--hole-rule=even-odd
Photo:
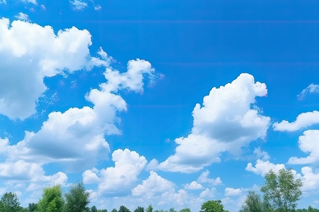
[{"label": "mid-sized puffy white cloud low in the sky, left of small triangular cloud", "polygon": [[[130,151],[129,149],[117,149],[112,154],[112,160],[115,163],[114,167],[106,169],[92,169],[86,170],[83,173],[83,181],[85,184],[98,182],[98,190],[103,194],[114,194],[127,192],[132,189],[132,183],[137,181],[138,175],[145,168],[147,160],[144,156],[140,156],[137,152]],[[141,187],[146,188],[149,181],[153,180],[156,173],[152,173],[147,182]],[[158,178],[156,178],[158,179]],[[135,194],[140,194],[141,187],[135,190]]]}]

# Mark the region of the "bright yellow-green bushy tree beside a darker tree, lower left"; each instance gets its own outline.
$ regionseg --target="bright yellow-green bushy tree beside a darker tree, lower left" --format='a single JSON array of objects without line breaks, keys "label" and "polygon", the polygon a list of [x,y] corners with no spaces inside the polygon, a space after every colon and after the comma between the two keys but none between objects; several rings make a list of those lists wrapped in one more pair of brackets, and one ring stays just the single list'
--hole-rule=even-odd
[{"label": "bright yellow-green bushy tree beside a darker tree, lower left", "polygon": [[60,185],[43,189],[42,198],[39,200],[38,212],[61,212],[64,199]]}]

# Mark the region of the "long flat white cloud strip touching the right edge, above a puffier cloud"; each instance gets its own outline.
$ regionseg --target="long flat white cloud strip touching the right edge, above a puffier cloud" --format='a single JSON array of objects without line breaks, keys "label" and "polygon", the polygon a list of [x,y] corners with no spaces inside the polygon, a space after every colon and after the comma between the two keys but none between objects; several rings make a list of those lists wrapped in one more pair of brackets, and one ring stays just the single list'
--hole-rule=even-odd
[{"label": "long flat white cloud strip touching the right edge, above a puffier cloud", "polygon": [[292,123],[287,120],[282,120],[280,123],[276,122],[273,124],[273,128],[276,131],[293,132],[314,124],[319,124],[319,112],[316,110],[299,114],[295,122]]}]

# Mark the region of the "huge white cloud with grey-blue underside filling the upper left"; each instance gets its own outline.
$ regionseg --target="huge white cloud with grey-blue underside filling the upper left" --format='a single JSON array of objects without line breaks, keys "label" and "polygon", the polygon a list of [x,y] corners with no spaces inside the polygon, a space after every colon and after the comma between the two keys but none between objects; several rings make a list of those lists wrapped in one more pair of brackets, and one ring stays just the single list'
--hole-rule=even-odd
[{"label": "huge white cloud with grey-blue underside filling the upper left", "polygon": [[72,27],[55,34],[51,26],[21,20],[10,25],[9,19],[2,18],[0,31],[0,113],[11,119],[36,112],[37,100],[47,89],[44,77],[94,65],[91,35],[85,29]]}]

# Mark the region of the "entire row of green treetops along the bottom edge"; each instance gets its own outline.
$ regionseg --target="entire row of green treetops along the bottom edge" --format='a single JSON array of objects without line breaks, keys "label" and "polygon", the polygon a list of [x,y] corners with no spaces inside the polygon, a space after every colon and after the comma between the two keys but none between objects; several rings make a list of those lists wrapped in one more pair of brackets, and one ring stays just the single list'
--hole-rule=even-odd
[{"label": "entire row of green treetops along the bottom edge", "polygon": [[[296,209],[297,202],[301,199],[302,181],[294,178],[291,169],[281,169],[278,173],[270,170],[265,175],[265,183],[261,186],[261,197],[254,191],[249,191],[240,212],[319,212],[309,206],[307,209]],[[19,199],[14,193],[5,193],[0,200],[0,212],[108,212],[107,209],[97,209],[96,206],[88,207],[90,194],[85,190],[82,181],[70,186],[63,195],[60,185],[44,188],[42,198],[38,203],[30,203],[28,207],[20,206]],[[153,210],[153,206],[137,207],[134,212],[177,212],[173,207],[169,210]],[[121,205],[112,212],[130,212]],[[183,208],[179,212],[191,212],[190,208]],[[224,210],[220,200],[204,202],[199,212],[229,212]]]}]

